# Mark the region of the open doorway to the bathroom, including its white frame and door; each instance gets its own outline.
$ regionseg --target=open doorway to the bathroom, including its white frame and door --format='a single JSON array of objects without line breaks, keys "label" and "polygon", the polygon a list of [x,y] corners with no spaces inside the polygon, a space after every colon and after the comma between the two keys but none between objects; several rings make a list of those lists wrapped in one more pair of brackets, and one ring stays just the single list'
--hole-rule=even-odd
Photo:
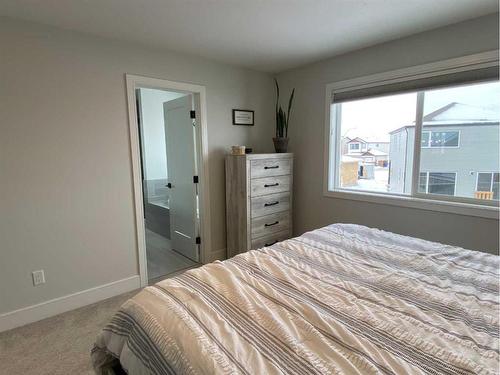
[{"label": "open doorway to the bathroom, including its white frame and door", "polygon": [[143,285],[205,258],[208,184],[201,88],[127,75]]}]

